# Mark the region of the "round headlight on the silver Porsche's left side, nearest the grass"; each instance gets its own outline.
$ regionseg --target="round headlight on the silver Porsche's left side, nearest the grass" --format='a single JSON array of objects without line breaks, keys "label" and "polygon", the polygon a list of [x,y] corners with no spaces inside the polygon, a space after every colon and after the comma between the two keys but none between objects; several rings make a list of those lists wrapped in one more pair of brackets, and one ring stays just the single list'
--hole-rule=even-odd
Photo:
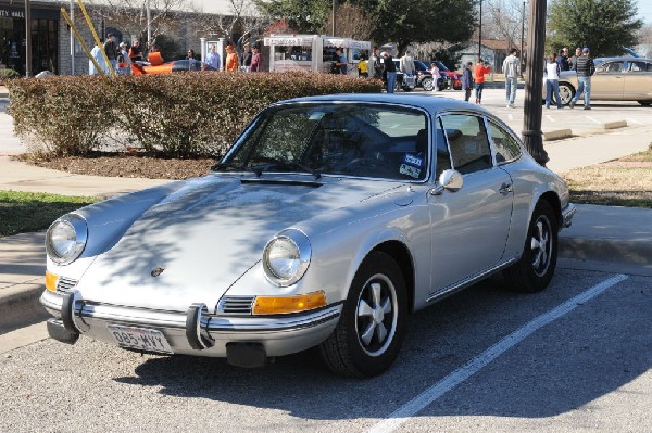
[{"label": "round headlight on the silver Porsche's left side, nearest the grass", "polygon": [[78,215],[64,215],[50,226],[46,234],[46,250],[52,262],[67,265],[74,262],[86,246],[88,229]]}]

